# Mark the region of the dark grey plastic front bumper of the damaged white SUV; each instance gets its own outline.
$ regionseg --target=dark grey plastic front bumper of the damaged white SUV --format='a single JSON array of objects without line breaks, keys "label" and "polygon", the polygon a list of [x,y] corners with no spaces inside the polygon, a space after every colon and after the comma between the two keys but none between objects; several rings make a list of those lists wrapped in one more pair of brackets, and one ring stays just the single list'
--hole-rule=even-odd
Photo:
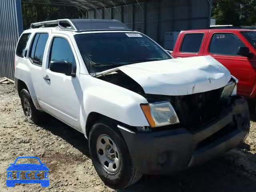
[{"label": "dark grey plastic front bumper of the damaged white SUV", "polygon": [[234,96],[217,118],[195,131],[178,128],[140,133],[120,129],[120,132],[138,172],[169,174],[236,148],[249,129],[248,104],[244,98]]}]

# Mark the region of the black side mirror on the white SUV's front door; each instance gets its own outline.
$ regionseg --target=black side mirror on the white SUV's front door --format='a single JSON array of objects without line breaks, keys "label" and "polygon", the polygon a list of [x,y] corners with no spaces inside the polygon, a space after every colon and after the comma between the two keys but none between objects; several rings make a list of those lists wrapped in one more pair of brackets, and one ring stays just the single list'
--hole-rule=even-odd
[{"label": "black side mirror on the white SUV's front door", "polygon": [[52,72],[56,73],[63,73],[68,76],[76,76],[76,74],[73,74],[71,72],[72,64],[66,62],[66,61],[51,61],[49,69]]}]

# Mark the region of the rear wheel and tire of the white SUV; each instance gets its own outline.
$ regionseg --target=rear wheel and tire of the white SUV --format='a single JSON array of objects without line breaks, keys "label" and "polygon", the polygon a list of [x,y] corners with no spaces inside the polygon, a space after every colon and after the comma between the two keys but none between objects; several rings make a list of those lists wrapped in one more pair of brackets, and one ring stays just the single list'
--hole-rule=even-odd
[{"label": "rear wheel and tire of the white SUV", "polygon": [[21,90],[20,101],[26,120],[30,123],[39,123],[40,118],[42,118],[42,112],[36,109],[30,93],[26,89]]}]

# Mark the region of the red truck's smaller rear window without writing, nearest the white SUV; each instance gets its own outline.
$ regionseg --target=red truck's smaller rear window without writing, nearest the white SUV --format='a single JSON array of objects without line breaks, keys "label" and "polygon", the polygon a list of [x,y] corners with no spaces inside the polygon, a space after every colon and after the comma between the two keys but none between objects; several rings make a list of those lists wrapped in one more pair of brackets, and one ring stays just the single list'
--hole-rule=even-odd
[{"label": "red truck's smaller rear window without writing, nearest the white SUV", "polygon": [[187,33],[183,38],[180,52],[198,53],[204,38],[203,33]]}]

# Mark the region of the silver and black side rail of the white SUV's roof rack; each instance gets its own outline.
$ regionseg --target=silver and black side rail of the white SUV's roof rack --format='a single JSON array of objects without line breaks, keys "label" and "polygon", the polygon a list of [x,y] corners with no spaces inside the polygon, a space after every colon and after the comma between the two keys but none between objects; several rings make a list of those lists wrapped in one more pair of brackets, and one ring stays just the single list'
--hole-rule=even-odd
[{"label": "silver and black side rail of the white SUV's roof rack", "polygon": [[[60,29],[78,31],[78,28],[74,25],[74,23],[70,19],[58,19],[58,20],[51,20],[51,21],[43,21],[43,22],[32,23],[30,25],[30,28],[44,27],[46,25],[54,25],[54,24],[56,26],[58,26]],[[67,24],[69,26],[67,26]]]}]

